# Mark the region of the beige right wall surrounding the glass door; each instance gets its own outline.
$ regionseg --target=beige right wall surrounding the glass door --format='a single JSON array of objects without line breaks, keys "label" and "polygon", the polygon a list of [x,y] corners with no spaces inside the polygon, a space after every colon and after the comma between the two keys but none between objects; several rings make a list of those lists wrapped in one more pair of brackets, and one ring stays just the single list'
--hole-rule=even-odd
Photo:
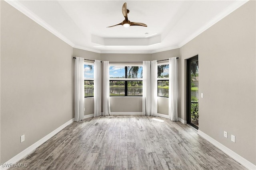
[{"label": "beige right wall surrounding the glass door", "polygon": [[[249,1],[180,48],[185,59],[199,59],[199,130],[256,164],[256,1]],[[185,82],[180,114],[186,117]],[[186,118],[185,118],[186,119]],[[228,139],[224,138],[228,132]],[[230,136],[236,136],[236,143]]]}]

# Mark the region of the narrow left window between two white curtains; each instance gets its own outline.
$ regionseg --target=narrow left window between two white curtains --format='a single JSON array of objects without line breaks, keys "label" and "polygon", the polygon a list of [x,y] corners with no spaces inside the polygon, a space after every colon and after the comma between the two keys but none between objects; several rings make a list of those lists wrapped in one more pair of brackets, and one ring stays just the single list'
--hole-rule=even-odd
[{"label": "narrow left window between two white curtains", "polygon": [[84,97],[93,97],[94,65],[84,63]]}]

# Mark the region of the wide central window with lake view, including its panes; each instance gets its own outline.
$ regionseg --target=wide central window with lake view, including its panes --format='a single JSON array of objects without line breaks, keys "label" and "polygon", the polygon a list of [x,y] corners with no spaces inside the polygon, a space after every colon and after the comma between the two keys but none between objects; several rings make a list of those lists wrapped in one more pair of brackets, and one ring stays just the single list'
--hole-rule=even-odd
[{"label": "wide central window with lake view, including its panes", "polygon": [[109,66],[110,96],[142,96],[142,65]]}]

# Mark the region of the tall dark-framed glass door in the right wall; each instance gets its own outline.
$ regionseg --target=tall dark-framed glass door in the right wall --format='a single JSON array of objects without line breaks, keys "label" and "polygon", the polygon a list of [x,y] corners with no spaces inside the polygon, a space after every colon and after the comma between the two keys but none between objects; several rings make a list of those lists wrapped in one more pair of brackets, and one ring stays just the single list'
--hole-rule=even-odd
[{"label": "tall dark-framed glass door in the right wall", "polygon": [[187,60],[187,123],[198,129],[198,55]]}]

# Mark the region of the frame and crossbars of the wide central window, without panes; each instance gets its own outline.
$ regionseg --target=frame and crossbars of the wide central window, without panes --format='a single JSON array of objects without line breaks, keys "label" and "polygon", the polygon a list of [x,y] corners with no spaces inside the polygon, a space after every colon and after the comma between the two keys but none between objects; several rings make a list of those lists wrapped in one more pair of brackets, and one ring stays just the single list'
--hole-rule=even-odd
[{"label": "frame and crossbars of the wide central window, without panes", "polygon": [[[128,96],[128,82],[142,82],[142,78],[128,78],[128,67],[129,66],[138,66],[138,67],[143,67],[142,64],[109,64],[110,66],[122,66],[125,69],[125,78],[109,78],[110,81],[122,81],[124,82],[124,96],[110,96],[110,97],[142,97],[141,96]],[[142,68],[143,69],[143,68]],[[142,84],[143,86],[143,84]],[[109,87],[110,88],[110,87]],[[143,87],[142,87],[143,89]]]}]

